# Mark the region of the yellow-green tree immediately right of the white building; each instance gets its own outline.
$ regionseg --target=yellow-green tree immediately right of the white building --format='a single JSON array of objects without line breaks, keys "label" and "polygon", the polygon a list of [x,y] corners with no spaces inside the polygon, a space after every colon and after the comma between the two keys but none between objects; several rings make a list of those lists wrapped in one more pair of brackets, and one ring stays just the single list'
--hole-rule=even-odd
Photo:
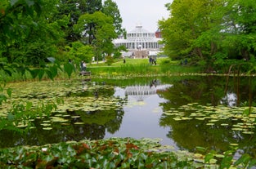
[{"label": "yellow-green tree immediately right of the white building", "polygon": [[171,16],[168,20],[159,21],[164,37],[164,49],[168,54],[185,57],[192,54],[201,59],[207,57],[209,53],[205,53],[196,40],[213,26],[211,15],[220,3],[209,0],[174,0],[169,4],[167,7]]}]

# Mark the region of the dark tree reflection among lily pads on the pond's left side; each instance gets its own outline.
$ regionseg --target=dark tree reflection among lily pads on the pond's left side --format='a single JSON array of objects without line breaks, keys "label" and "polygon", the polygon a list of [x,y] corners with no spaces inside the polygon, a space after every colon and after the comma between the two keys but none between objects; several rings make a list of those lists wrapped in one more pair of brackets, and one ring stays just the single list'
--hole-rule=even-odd
[{"label": "dark tree reflection among lily pads on the pond's left side", "polygon": [[[70,86],[71,87],[71,86]],[[74,87],[74,86],[72,86]],[[125,98],[113,98],[114,87],[106,86],[105,83],[83,82],[82,90],[67,90],[65,97],[69,98],[94,98],[91,102],[97,105],[95,100],[100,98],[111,98],[115,100],[108,107],[105,105],[97,105],[98,109],[92,111],[84,111],[82,109],[70,110],[61,113],[61,118],[67,119],[66,122],[52,122],[51,117],[60,115],[56,112],[50,117],[37,118],[34,120],[34,129],[22,134],[16,131],[1,131],[0,132],[0,147],[13,147],[16,145],[45,145],[58,143],[68,140],[100,140],[106,135],[106,131],[114,133],[119,130],[124,116],[123,104]],[[97,91],[97,97],[95,92]],[[79,102],[78,102],[79,103]],[[101,103],[101,102],[99,102]],[[66,102],[65,105],[69,105]],[[115,105],[119,105],[118,108]],[[70,105],[72,107],[74,105]],[[68,106],[69,107],[69,106]],[[101,108],[102,107],[102,108]],[[42,124],[49,121],[52,130],[44,130]]]}]

